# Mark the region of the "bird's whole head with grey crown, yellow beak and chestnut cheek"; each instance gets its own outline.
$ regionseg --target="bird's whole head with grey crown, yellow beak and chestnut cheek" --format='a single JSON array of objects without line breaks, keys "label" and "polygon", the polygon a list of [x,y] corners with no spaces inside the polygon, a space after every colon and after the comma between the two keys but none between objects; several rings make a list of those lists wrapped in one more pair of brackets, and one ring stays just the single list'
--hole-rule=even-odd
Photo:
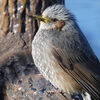
[{"label": "bird's whole head with grey crown, yellow beak and chestnut cheek", "polygon": [[64,5],[60,4],[55,4],[46,8],[42,13],[42,16],[33,15],[33,18],[40,21],[39,29],[45,30],[64,29],[64,27],[69,24],[68,22],[71,22],[74,19]]}]

